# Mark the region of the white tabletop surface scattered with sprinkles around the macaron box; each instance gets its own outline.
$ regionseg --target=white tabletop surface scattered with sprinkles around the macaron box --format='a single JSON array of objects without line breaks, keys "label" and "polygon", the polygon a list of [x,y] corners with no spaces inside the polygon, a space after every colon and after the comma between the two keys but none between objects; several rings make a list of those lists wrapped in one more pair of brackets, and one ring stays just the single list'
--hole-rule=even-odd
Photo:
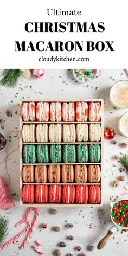
[{"label": "white tabletop surface scattered with sprinkles around the macaron box", "polygon": [[[73,255],[80,255],[80,252],[74,250],[76,246],[81,246],[86,256],[121,256],[127,255],[127,235],[128,232],[121,234],[121,229],[114,234],[108,241],[108,244],[102,251],[98,251],[98,241],[103,238],[107,233],[107,230],[112,226],[110,219],[110,197],[120,196],[127,197],[127,173],[124,174],[126,180],[120,182],[118,188],[113,188],[111,183],[120,175],[119,168],[120,163],[113,159],[114,155],[127,152],[127,149],[123,149],[119,146],[122,142],[128,142],[126,138],[120,136],[117,130],[118,118],[126,112],[126,110],[115,110],[110,104],[109,91],[114,82],[120,79],[127,79],[127,76],[123,69],[106,69],[101,71],[99,78],[96,78],[89,87],[83,87],[83,85],[76,85],[74,82],[71,71],[66,69],[47,69],[46,75],[43,79],[37,80],[34,78],[23,80],[20,78],[18,85],[15,89],[9,89],[0,87],[0,119],[3,119],[5,135],[9,130],[18,131],[18,114],[15,112],[18,110],[19,100],[24,98],[41,98],[47,99],[82,99],[82,98],[105,98],[104,106],[104,124],[105,126],[112,126],[116,131],[115,140],[117,145],[113,145],[112,141],[104,140],[104,207],[98,208],[56,208],[57,214],[51,215],[48,208],[39,208],[40,217],[37,226],[34,230],[33,237],[29,240],[29,244],[21,251],[18,247],[21,245],[22,239],[19,239],[19,243],[10,245],[8,248],[1,252],[2,256],[15,256],[15,255],[37,255],[36,252],[31,249],[34,241],[38,239],[42,244],[42,251],[44,255],[52,255],[54,249],[57,248],[57,243],[65,241],[67,247],[62,248],[62,256],[72,253]],[[114,81],[113,81],[114,79]],[[30,86],[32,86],[30,88]],[[23,89],[21,89],[21,88]],[[95,87],[99,87],[96,90]],[[18,94],[16,94],[18,93]],[[42,94],[40,94],[42,93]],[[16,97],[15,97],[16,96]],[[11,103],[11,101],[13,101]],[[7,117],[5,111],[7,109],[12,111],[12,117]],[[5,120],[5,121],[4,121]],[[11,135],[11,142],[8,140],[7,150],[10,152],[17,145],[17,138]],[[4,151],[0,154],[0,162],[4,158]],[[9,188],[12,193],[19,194],[19,160],[18,151],[12,153],[8,159],[8,171],[11,177],[11,183]],[[8,182],[8,177],[4,169],[4,164],[0,165],[0,174]],[[15,207],[7,210],[7,212],[0,210],[1,215],[9,217],[10,220],[10,233],[8,236],[12,238],[19,230],[14,225],[22,220],[26,208],[21,208],[17,196],[14,196]],[[65,222],[67,220],[67,222]],[[48,224],[47,229],[40,229],[39,225],[42,222]],[[68,229],[65,227],[66,223],[73,223],[73,228]],[[52,231],[53,226],[60,226],[61,232]],[[41,230],[41,232],[40,232]],[[66,237],[68,235],[74,235],[74,241],[68,241]],[[113,239],[112,239],[113,238]],[[7,240],[8,240],[7,239]],[[87,251],[89,245],[94,246],[94,251]],[[17,254],[19,253],[19,254]]]}]

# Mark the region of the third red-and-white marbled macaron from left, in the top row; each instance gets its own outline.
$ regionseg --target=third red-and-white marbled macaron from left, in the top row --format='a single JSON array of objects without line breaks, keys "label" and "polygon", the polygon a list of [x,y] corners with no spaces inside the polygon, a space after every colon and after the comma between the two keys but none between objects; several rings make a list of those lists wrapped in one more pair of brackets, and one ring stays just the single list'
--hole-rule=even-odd
[{"label": "third red-and-white marbled macaron from left, in the top row", "polygon": [[62,119],[62,110],[60,102],[52,102],[50,104],[50,120],[52,122],[60,122]]}]

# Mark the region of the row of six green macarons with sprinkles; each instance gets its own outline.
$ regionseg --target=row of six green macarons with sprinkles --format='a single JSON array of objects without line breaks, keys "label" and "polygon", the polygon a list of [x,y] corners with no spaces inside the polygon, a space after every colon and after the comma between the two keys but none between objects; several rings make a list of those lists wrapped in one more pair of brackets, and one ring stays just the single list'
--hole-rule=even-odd
[{"label": "row of six green macarons with sprinkles", "polygon": [[99,162],[101,150],[99,144],[27,144],[23,146],[24,163],[91,163]]}]

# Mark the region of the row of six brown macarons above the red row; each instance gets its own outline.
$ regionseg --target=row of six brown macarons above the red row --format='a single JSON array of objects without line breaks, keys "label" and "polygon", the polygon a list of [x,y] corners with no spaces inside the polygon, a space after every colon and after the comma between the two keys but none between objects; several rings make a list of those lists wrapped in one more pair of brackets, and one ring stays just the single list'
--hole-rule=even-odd
[{"label": "row of six brown macarons above the red row", "polygon": [[99,183],[101,178],[101,171],[98,164],[78,165],[24,165],[22,169],[23,182],[29,183],[36,181],[37,183],[59,183],[61,180],[63,183]]}]

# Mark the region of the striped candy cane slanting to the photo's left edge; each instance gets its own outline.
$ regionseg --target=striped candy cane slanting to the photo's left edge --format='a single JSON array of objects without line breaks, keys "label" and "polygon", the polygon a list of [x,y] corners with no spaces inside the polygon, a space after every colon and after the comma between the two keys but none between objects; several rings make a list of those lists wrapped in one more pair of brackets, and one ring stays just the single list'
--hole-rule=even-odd
[{"label": "striped candy cane slanting to the photo's left edge", "polygon": [[24,219],[20,222],[18,222],[18,225],[17,226],[20,226],[22,223],[24,222],[27,222],[28,223],[28,227],[27,228],[24,228],[23,231],[21,231],[18,235],[16,235],[14,238],[12,238],[10,241],[6,242],[4,245],[2,245],[0,247],[0,251],[2,251],[5,247],[9,246],[10,244],[14,243],[17,239],[19,239],[22,235],[25,234],[25,232],[27,232],[30,227],[31,227],[31,221],[30,220],[27,220],[27,219]]}]

